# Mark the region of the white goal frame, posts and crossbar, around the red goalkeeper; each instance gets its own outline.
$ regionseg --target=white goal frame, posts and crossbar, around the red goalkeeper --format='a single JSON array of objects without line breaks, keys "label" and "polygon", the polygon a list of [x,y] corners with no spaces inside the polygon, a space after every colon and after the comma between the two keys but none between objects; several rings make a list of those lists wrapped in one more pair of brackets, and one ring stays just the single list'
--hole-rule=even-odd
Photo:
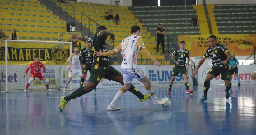
[{"label": "white goal frame, posts and crossbar, around the red goalkeeper", "polygon": [[[30,43],[57,43],[57,44],[70,44],[69,53],[72,54],[72,42],[60,42],[60,41],[37,41],[37,40],[5,40],[5,74],[8,74],[7,64],[8,64],[8,42],[30,42]],[[70,83],[70,89],[72,89],[72,83]],[[4,92],[4,91],[1,91]],[[8,81],[5,81],[5,92],[8,92]]]}]

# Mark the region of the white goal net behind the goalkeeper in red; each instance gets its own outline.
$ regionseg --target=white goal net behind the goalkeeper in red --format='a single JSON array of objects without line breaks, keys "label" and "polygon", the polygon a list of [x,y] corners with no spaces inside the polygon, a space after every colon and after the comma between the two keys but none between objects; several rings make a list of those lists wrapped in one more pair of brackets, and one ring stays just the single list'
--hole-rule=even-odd
[{"label": "white goal net behind the goalkeeper in red", "polygon": [[[23,91],[30,71],[23,77],[26,68],[35,57],[39,57],[45,67],[45,77],[49,88],[59,90],[66,83],[68,70],[66,61],[72,53],[71,42],[6,40],[0,42],[0,92]],[[43,69],[41,69],[43,72]],[[46,90],[43,80],[37,77],[30,84],[28,91]]]}]

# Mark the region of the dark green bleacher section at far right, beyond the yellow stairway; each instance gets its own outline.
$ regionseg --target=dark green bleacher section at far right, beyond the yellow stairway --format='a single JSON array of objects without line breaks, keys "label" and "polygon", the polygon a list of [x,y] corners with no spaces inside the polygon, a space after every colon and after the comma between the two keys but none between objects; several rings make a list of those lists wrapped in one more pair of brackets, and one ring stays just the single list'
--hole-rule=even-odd
[{"label": "dark green bleacher section at far right, beyond the yellow stairway", "polygon": [[256,4],[214,5],[214,17],[220,34],[256,32]]}]

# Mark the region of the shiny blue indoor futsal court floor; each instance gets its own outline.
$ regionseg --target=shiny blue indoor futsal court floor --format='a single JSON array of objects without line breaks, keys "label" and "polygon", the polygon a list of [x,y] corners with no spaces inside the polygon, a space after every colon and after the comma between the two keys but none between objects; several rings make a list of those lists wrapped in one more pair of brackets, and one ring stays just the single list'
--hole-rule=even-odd
[{"label": "shiny blue indoor futsal court floor", "polygon": [[[256,134],[256,85],[232,85],[225,98],[224,85],[211,85],[208,100],[199,102],[203,86],[152,87],[158,98],[168,97],[170,108],[141,103],[127,91],[117,103],[120,111],[106,108],[119,88],[97,89],[70,100],[59,111],[60,97],[73,91],[0,93],[2,135],[252,135]],[[143,94],[144,87],[138,87]]]}]

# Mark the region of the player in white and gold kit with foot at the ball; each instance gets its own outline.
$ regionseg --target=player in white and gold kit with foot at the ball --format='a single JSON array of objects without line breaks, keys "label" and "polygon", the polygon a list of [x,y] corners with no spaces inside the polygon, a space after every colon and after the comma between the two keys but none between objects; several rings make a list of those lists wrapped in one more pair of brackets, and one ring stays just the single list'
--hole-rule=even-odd
[{"label": "player in white and gold kit with foot at the ball", "polygon": [[[102,52],[101,50],[99,52],[95,51],[94,54],[96,54],[96,56],[108,56],[122,51],[121,54],[123,57],[123,61],[121,64],[121,70],[123,72],[123,87],[125,91],[130,89],[133,79],[139,80],[144,84],[147,93],[153,99],[153,103],[163,105],[166,103],[166,101],[158,99],[156,97],[155,93],[151,88],[151,82],[149,78],[147,77],[146,73],[137,65],[137,55],[139,50],[141,50],[146,57],[151,59],[155,66],[161,66],[161,64],[156,60],[156,58],[151,55],[151,53],[144,46],[144,42],[142,40],[142,37],[140,36],[140,27],[137,25],[132,26],[131,33],[132,35],[125,38],[119,44],[119,46],[115,47],[115,49],[108,52]],[[124,92],[119,90],[109,106],[116,105],[117,101],[123,94]]]}]

